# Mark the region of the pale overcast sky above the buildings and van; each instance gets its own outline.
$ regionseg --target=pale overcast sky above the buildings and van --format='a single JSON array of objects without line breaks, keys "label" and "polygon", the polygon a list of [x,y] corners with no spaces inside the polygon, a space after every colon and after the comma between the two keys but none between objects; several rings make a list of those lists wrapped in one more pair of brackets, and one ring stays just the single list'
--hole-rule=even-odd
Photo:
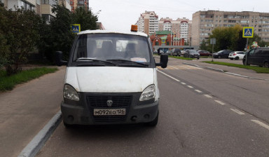
[{"label": "pale overcast sky above the buildings and van", "polygon": [[89,6],[108,30],[130,30],[140,14],[155,11],[160,18],[188,18],[197,11],[254,11],[269,13],[268,0],[89,0]]}]

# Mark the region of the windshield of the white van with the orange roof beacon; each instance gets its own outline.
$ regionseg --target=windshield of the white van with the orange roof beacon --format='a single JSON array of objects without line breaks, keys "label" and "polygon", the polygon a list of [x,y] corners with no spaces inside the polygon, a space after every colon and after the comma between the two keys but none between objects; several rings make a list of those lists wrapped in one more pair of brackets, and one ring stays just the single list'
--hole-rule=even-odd
[{"label": "windshield of the white van with the orange roof beacon", "polygon": [[[149,44],[146,36],[130,34],[82,34],[76,41],[74,62],[92,60],[130,60],[149,63]],[[114,61],[113,61],[114,60]]]}]

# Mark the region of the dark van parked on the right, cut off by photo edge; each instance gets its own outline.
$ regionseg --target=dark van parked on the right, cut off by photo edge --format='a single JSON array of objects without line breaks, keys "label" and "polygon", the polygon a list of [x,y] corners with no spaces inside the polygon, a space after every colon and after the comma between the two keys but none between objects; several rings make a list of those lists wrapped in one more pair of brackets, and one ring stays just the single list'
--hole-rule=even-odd
[{"label": "dark van parked on the right, cut off by photo edge", "polygon": [[247,52],[247,62],[246,55],[244,55],[243,64],[253,64],[269,68],[269,48],[252,48]]}]

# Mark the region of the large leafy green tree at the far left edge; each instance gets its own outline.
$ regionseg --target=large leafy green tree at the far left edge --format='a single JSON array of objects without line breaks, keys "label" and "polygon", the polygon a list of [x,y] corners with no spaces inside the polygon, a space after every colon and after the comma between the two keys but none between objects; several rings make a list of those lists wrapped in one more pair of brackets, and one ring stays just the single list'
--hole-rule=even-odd
[{"label": "large leafy green tree at the far left edge", "polygon": [[8,75],[22,70],[22,64],[27,61],[27,55],[34,50],[39,41],[39,23],[41,18],[34,11],[15,8],[7,11],[1,6],[1,64],[4,64]]}]

